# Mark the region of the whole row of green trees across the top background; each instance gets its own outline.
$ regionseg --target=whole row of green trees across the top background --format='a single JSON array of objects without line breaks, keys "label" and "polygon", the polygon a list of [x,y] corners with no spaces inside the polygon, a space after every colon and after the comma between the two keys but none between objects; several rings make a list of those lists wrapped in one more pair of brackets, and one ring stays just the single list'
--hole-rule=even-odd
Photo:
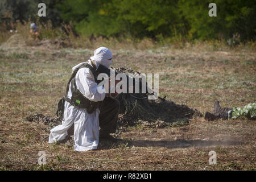
[{"label": "whole row of green trees across the top background", "polygon": [[[0,21],[35,20],[38,3],[46,3],[46,17],[53,26],[72,22],[82,36],[106,38],[183,38],[187,40],[256,39],[256,2],[253,0],[2,0]],[[217,16],[210,17],[209,3]],[[6,12],[11,16],[6,17]]]}]

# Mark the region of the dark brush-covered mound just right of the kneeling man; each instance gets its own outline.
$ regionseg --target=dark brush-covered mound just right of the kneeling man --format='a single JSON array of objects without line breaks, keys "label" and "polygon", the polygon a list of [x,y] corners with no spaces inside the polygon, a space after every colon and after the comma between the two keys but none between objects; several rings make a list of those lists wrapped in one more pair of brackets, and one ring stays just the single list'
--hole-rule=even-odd
[{"label": "dark brush-covered mound just right of the kneeling man", "polygon": [[[125,68],[116,68],[115,72],[126,75],[133,73],[135,76],[141,74]],[[190,109],[185,105],[177,105],[174,102],[159,99],[148,100],[145,97],[147,97],[146,93],[119,94],[117,99],[120,101],[120,114],[122,114],[119,124],[130,126],[135,125],[140,120],[149,123],[159,123],[159,121],[167,123],[188,122],[188,119],[191,119],[194,114],[201,115],[199,111]]]}]

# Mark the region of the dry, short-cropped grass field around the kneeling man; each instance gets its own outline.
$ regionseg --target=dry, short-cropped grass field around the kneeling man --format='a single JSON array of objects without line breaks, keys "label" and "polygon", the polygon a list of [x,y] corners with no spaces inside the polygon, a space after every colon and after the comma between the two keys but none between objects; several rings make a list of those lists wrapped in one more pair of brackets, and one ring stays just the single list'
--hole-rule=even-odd
[{"label": "dry, short-cropped grass field around the kneeling man", "polygon": [[[255,170],[255,120],[137,125],[122,129],[118,143],[76,152],[48,144],[48,125],[26,117],[43,113],[55,118],[72,67],[93,55],[90,49],[54,46],[0,47],[0,169],[2,170]],[[225,107],[255,102],[256,53],[247,48],[112,50],[113,67],[159,73],[160,96],[201,113],[218,99]],[[158,123],[163,123],[158,121]],[[168,123],[168,121],[164,121]],[[170,124],[170,123],[168,123]],[[39,166],[39,151],[46,165]],[[209,164],[209,152],[217,164]]]}]

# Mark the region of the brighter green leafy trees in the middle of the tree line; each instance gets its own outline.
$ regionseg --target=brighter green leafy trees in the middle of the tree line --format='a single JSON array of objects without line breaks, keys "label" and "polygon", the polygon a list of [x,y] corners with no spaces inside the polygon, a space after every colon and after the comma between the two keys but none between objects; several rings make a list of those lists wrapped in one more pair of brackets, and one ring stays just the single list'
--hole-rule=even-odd
[{"label": "brighter green leafy trees in the middle of the tree line", "polygon": [[73,20],[81,34],[142,38],[174,34],[174,27],[179,28],[182,23],[176,4],[170,0],[65,0],[58,7],[61,17]]}]

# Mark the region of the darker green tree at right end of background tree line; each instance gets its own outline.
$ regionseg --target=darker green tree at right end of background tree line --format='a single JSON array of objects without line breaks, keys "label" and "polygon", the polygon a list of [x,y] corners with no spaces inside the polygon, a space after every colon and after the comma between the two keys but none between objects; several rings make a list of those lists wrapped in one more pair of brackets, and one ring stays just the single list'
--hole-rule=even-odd
[{"label": "darker green tree at right end of background tree line", "polygon": [[216,0],[217,17],[208,15],[212,1],[179,1],[181,15],[189,22],[189,34],[194,39],[230,38],[238,32],[243,40],[255,40],[255,1]]}]

